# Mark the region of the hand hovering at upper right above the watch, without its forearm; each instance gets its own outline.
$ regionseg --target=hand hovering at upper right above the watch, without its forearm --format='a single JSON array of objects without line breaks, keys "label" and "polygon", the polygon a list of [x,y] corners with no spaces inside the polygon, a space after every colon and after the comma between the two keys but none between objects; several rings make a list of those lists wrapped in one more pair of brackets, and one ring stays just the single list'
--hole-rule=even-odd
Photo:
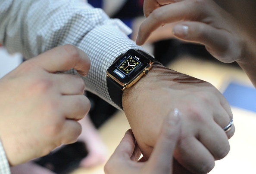
[{"label": "hand hovering at upper right above the watch, without its forearm", "polygon": [[[171,4],[164,5],[167,3]],[[144,11],[148,17],[140,26],[138,45],[144,44],[158,27],[175,24],[170,31],[175,37],[205,45],[222,62],[244,58],[247,43],[240,24],[212,0],[145,0]]]}]

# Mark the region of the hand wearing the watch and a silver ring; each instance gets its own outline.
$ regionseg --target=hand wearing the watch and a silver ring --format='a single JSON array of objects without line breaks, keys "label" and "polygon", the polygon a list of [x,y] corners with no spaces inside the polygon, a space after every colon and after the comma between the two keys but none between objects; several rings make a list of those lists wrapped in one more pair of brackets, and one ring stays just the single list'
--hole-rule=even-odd
[{"label": "hand wearing the watch and a silver ring", "polygon": [[182,126],[174,157],[184,168],[208,173],[214,161],[230,150],[228,138],[233,136],[234,126],[227,134],[222,128],[233,117],[231,108],[208,82],[153,65],[147,76],[125,89],[122,103],[146,159],[156,145],[163,118],[175,108],[182,113]]}]

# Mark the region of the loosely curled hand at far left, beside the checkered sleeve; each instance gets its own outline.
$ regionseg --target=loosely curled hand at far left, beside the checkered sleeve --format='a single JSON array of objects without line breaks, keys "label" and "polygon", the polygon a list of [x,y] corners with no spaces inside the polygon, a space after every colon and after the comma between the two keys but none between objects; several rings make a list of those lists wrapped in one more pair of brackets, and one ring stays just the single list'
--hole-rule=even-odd
[{"label": "loosely curled hand at far left, beside the checkered sleeve", "polygon": [[88,113],[90,101],[80,77],[57,74],[71,68],[86,75],[90,60],[65,45],[25,61],[0,79],[0,137],[10,165],[77,140],[77,121]]}]

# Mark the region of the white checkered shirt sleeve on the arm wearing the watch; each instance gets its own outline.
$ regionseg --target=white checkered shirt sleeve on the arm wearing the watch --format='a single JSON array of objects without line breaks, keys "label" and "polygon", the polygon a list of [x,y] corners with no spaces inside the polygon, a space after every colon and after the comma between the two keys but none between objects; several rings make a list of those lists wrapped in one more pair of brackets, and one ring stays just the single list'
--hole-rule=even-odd
[{"label": "white checkered shirt sleeve on the arm wearing the watch", "polygon": [[0,16],[0,43],[9,52],[32,58],[63,44],[86,52],[91,59],[89,75],[83,77],[86,90],[117,107],[107,91],[106,70],[128,49],[142,49],[119,19],[84,0],[2,0]]}]

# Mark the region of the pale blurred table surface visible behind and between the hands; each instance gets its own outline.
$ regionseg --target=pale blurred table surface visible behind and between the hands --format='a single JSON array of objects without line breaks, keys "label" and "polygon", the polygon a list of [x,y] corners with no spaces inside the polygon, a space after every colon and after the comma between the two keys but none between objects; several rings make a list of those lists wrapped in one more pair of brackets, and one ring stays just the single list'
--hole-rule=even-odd
[{"label": "pale blurred table surface visible behind and between the hands", "polygon": [[[184,56],[172,62],[169,68],[208,81],[221,92],[224,92],[230,82],[239,82],[252,87],[246,74],[238,67]],[[236,127],[234,136],[229,140],[231,150],[228,156],[215,162],[215,168],[209,174],[251,174],[256,171],[256,113],[234,106],[231,106],[231,110]],[[109,156],[129,128],[125,114],[118,111],[99,129]],[[91,169],[78,168],[72,174],[104,174],[103,167],[104,165]]]}]

